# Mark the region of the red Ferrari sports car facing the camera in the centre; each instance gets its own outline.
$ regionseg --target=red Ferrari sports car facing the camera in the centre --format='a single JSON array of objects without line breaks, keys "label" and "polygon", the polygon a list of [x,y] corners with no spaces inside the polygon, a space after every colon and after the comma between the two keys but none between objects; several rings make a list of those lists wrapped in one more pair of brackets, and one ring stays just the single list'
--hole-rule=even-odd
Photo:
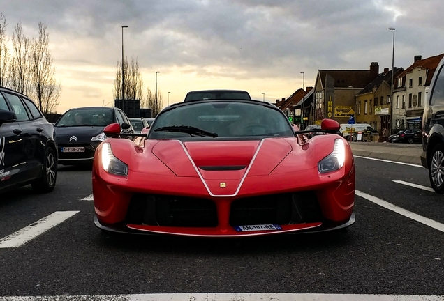
[{"label": "red Ferrari sports car facing the camera in the centre", "polygon": [[343,229],[355,222],[355,164],[338,130],[324,119],[309,140],[256,100],[171,105],[135,139],[108,125],[94,156],[95,224],[202,237]]}]

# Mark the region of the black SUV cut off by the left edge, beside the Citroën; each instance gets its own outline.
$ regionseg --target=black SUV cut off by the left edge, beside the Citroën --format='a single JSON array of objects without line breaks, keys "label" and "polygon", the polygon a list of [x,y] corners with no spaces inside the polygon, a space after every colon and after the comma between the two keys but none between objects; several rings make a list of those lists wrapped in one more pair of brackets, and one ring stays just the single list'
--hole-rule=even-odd
[{"label": "black SUV cut off by the left edge, beside the Citro\u00ebn", "polygon": [[27,184],[51,192],[56,179],[54,127],[27,96],[0,87],[0,193]]}]

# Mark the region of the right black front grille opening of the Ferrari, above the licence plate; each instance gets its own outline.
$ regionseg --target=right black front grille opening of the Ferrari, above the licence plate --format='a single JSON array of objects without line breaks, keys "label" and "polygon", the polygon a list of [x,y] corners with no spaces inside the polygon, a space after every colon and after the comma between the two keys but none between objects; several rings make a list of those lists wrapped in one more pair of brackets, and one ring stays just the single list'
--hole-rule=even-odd
[{"label": "right black front grille opening of the Ferrari, above the licence plate", "polygon": [[230,225],[301,224],[320,222],[322,214],[316,194],[272,194],[237,199],[232,203]]}]

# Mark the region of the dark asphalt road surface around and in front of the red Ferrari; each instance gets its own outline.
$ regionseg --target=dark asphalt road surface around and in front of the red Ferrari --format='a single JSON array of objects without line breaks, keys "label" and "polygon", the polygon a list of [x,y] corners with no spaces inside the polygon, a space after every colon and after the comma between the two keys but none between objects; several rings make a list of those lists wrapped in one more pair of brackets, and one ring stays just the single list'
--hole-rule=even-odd
[{"label": "dark asphalt road surface around and in front of the red Ferrari", "polygon": [[[61,167],[50,194],[0,196],[0,300],[442,300],[444,196],[427,169],[373,159],[355,157],[347,231],[224,240],[102,233],[91,170]],[[15,239],[49,216],[61,222]]]}]

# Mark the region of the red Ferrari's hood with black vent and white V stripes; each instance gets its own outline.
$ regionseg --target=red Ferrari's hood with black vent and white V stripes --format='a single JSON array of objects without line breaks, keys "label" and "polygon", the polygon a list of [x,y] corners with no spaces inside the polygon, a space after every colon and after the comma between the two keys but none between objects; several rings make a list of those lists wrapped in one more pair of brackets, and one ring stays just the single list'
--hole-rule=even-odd
[{"label": "red Ferrari's hood with black vent and white V stripes", "polygon": [[[181,177],[202,176],[205,180],[240,180],[262,176],[292,151],[285,139],[262,141],[159,141],[152,152]],[[200,175],[199,175],[200,173]]]}]

